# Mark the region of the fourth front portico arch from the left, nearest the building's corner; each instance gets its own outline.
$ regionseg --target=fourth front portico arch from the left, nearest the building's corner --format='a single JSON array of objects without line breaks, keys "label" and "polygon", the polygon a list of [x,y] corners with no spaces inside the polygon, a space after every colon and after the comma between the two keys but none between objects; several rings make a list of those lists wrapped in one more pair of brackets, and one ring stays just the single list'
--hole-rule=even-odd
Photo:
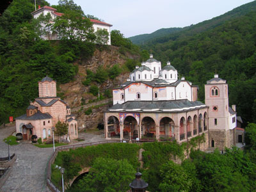
[{"label": "fourth front portico arch from the left, nearest the building's corner", "polygon": [[159,136],[160,138],[172,138],[172,140],[175,140],[174,122],[172,118],[164,117],[160,120]]}]

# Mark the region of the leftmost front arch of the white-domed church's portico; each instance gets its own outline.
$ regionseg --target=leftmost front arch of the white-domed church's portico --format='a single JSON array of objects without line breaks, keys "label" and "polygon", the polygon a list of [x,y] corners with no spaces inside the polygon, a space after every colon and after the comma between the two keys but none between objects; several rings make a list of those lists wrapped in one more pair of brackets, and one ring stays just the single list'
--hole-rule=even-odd
[{"label": "leftmost front arch of the white-domed church's portico", "polygon": [[120,125],[116,116],[108,118],[108,138],[120,138]]}]

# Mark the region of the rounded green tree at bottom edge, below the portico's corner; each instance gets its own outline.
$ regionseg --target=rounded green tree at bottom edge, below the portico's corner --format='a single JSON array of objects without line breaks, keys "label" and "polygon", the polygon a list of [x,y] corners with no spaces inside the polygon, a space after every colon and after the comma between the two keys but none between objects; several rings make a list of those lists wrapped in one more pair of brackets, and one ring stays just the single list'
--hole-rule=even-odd
[{"label": "rounded green tree at bottom edge, below the portico's corner", "polygon": [[189,191],[193,182],[188,173],[179,164],[169,161],[160,169],[161,183],[160,191]]}]

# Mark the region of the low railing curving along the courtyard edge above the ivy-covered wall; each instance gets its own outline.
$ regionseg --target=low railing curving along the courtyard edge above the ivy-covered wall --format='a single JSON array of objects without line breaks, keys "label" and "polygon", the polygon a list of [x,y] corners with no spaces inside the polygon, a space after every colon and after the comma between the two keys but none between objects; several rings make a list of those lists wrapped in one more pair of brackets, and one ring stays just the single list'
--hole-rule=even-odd
[{"label": "low railing curving along the courtyard edge above the ivy-covered wall", "polygon": [[75,144],[75,145],[63,145],[60,147],[56,147],[55,148],[55,152],[52,154],[52,156],[50,157],[48,164],[47,164],[47,170],[46,170],[46,175],[47,175],[47,187],[52,191],[52,192],[59,192],[60,190],[54,186],[54,184],[51,182],[51,174],[52,174],[52,170],[51,170],[51,164],[54,162],[58,151],[61,150],[68,150],[70,148],[79,148],[79,147],[88,147],[88,146],[92,146],[92,145],[99,145],[99,144],[104,144],[104,143],[119,143],[120,141],[118,140],[111,140],[111,141],[98,141],[98,142],[92,142],[92,143],[81,143],[81,144]]}]

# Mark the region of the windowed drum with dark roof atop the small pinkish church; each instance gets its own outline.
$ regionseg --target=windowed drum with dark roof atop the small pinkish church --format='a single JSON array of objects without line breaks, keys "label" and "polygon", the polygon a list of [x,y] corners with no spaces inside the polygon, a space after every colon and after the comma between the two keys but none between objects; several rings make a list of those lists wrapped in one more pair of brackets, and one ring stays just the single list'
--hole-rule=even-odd
[{"label": "windowed drum with dark roof atop the small pinkish church", "polygon": [[39,97],[56,97],[56,81],[46,76],[38,82]]}]

